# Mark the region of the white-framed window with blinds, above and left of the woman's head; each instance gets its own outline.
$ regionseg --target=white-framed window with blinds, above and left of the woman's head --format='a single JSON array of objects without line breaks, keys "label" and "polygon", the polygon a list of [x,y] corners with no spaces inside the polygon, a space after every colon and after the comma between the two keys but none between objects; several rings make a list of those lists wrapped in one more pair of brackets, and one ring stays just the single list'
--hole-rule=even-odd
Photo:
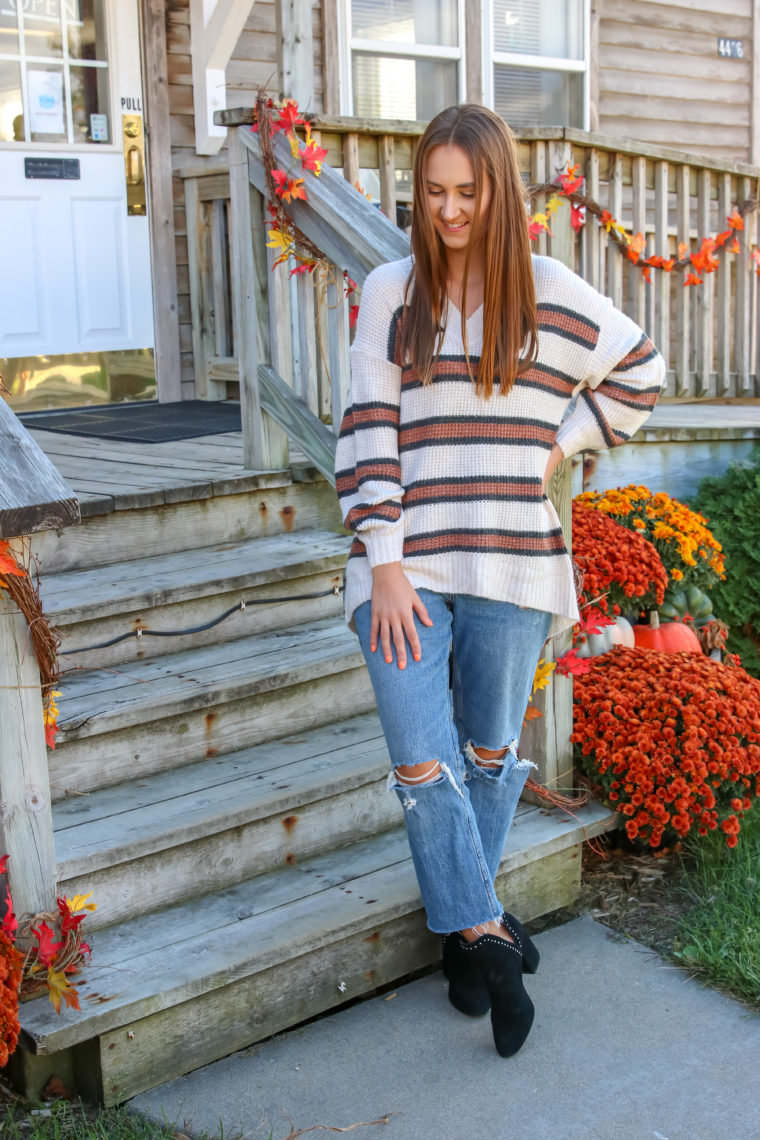
[{"label": "white-framed window with blinds, above and left of the woman's head", "polygon": [[361,119],[432,119],[464,92],[464,0],[345,0],[344,107]]}]

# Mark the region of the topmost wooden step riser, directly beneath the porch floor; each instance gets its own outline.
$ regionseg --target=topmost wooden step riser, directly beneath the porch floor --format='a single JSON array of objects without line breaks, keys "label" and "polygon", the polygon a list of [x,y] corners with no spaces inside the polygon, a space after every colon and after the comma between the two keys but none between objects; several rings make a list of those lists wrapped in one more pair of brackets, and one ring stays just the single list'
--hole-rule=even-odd
[{"label": "topmost wooden step riser, directly beneath the porch floor", "polygon": [[342,531],[329,483],[294,483],[281,472],[162,488],[148,499],[130,502],[87,515],[77,527],[33,535],[31,548],[42,575],[301,530]]}]

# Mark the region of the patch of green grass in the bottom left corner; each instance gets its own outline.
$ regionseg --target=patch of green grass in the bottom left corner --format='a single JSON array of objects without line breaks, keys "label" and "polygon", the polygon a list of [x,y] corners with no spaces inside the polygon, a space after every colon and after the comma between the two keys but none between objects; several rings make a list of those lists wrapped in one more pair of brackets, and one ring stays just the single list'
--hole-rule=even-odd
[{"label": "patch of green grass in the bottom left corner", "polygon": [[[189,1125],[188,1125],[189,1127]],[[126,1108],[93,1108],[56,1100],[50,1105],[0,1104],[0,1140],[189,1140],[180,1125],[156,1124]],[[197,1140],[239,1140],[220,1129]]]}]

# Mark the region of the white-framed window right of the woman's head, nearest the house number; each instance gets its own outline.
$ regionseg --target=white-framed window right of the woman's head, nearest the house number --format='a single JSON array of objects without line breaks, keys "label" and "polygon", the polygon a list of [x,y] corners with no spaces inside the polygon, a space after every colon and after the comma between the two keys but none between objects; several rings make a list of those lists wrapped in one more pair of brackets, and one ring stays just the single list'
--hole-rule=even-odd
[{"label": "white-framed window right of the woman's head, nearest the house number", "polygon": [[490,106],[510,127],[586,127],[588,0],[487,0],[485,7]]}]

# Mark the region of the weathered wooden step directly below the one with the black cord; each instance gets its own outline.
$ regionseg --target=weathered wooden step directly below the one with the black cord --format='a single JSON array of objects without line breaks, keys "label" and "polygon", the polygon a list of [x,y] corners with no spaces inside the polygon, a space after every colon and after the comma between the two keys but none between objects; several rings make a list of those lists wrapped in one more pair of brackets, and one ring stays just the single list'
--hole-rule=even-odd
[{"label": "weathered wooden step directly below the one with the black cord", "polygon": [[322,619],[62,682],[55,799],[374,708],[359,642]]}]

